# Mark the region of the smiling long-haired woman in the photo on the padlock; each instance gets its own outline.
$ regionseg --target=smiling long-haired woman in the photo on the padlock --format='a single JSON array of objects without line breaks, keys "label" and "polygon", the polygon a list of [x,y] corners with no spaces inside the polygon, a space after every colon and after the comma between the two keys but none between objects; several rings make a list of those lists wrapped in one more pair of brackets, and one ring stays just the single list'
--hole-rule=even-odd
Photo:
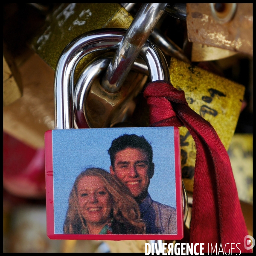
[{"label": "smiling long-haired woman in the photo on the padlock", "polygon": [[129,190],[100,168],[76,178],[64,221],[65,234],[145,234],[139,207]]}]

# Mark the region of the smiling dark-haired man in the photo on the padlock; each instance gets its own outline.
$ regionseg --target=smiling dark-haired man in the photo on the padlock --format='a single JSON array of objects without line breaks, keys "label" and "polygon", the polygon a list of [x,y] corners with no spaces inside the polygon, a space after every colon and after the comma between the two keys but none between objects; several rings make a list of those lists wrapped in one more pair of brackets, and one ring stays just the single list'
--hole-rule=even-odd
[{"label": "smiling dark-haired man in the photo on the padlock", "polygon": [[177,234],[176,209],[153,201],[148,193],[154,175],[153,150],[143,136],[124,134],[108,150],[110,172],[130,190],[139,204],[147,234]]}]

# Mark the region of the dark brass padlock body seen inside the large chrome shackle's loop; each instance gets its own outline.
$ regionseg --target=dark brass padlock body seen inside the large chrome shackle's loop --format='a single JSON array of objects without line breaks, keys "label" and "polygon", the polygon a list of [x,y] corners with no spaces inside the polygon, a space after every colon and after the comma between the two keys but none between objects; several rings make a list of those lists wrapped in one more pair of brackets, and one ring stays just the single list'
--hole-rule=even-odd
[{"label": "dark brass padlock body seen inside the large chrome shackle's loop", "polygon": [[[147,76],[131,71],[117,93],[108,93],[97,78],[86,99],[88,117],[94,128],[111,127],[127,121],[135,109],[133,99],[143,90]],[[126,119],[125,119],[126,118]]]}]

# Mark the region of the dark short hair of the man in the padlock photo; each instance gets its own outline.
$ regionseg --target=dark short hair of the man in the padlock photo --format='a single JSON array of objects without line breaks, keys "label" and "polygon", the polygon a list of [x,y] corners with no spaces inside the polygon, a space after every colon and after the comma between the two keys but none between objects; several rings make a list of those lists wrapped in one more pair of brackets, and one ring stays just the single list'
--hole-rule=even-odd
[{"label": "dark short hair of the man in the padlock photo", "polygon": [[111,147],[108,150],[113,168],[116,153],[124,150],[125,148],[140,148],[147,154],[149,164],[153,162],[153,149],[144,136],[138,136],[136,134],[123,134],[112,141]]}]

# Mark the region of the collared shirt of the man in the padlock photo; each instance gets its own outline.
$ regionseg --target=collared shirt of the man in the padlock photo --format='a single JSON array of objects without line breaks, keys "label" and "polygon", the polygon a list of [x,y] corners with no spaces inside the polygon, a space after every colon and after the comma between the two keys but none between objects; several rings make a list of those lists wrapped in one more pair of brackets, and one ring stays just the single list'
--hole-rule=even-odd
[{"label": "collared shirt of the man in the padlock photo", "polygon": [[140,204],[140,213],[146,223],[146,234],[177,234],[175,208],[153,201],[148,194]]}]

